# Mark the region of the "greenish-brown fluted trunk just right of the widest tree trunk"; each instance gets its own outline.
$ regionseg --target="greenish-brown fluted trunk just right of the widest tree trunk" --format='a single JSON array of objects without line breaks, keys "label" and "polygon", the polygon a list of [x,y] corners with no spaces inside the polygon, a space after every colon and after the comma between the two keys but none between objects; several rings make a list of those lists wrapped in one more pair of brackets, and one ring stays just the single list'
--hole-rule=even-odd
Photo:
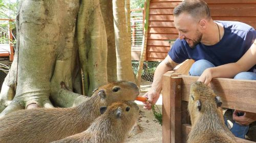
[{"label": "greenish-brown fluted trunk just right of the widest tree trunk", "polygon": [[77,32],[84,90],[85,94],[90,96],[96,87],[108,83],[106,73],[108,45],[98,0],[81,2]]}]

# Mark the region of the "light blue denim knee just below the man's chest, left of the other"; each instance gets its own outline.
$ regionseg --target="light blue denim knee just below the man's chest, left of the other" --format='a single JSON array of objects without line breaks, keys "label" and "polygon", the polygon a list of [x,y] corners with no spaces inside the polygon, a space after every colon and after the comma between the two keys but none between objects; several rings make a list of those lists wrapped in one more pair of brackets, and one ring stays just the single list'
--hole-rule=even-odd
[{"label": "light blue denim knee just below the man's chest, left of the other", "polygon": [[215,67],[214,64],[207,60],[196,61],[189,69],[190,76],[201,76],[206,68]]}]

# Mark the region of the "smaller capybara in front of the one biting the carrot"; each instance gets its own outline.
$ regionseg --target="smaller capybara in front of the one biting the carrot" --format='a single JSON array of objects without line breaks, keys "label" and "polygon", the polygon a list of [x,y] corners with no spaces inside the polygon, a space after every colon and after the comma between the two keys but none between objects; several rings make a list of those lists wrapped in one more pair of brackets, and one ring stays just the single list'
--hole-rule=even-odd
[{"label": "smaller capybara in front of the one biting the carrot", "polygon": [[104,113],[86,131],[54,141],[54,143],[124,142],[139,117],[137,104],[134,102],[116,102],[109,107],[101,107],[100,110]]}]

